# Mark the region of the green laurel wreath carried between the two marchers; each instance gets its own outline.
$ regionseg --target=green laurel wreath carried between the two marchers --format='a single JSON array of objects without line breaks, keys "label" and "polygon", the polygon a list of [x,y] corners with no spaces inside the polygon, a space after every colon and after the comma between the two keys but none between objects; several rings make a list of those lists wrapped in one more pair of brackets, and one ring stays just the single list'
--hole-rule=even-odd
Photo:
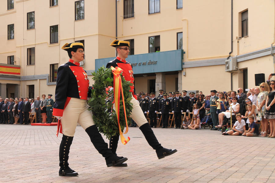
[{"label": "green laurel wreath carried between the two marchers", "polygon": [[[94,123],[98,127],[98,131],[103,133],[108,139],[113,135],[119,134],[116,111],[112,109],[113,107],[113,90],[108,92],[106,95],[106,90],[108,86],[113,86],[113,74],[110,68],[105,68],[104,66],[99,68],[97,72],[92,73],[94,84],[91,90],[91,98],[88,100],[89,110],[93,113]],[[132,118],[130,114],[133,109],[133,104],[130,102],[132,95],[130,93],[130,86],[132,83],[126,81],[121,74],[123,95],[127,116],[127,123],[130,124]],[[106,99],[108,97],[108,99]],[[106,102],[107,101],[107,102]],[[124,130],[126,126],[125,117],[123,112],[123,102],[122,96],[120,96],[119,105],[119,123],[121,130]]]}]

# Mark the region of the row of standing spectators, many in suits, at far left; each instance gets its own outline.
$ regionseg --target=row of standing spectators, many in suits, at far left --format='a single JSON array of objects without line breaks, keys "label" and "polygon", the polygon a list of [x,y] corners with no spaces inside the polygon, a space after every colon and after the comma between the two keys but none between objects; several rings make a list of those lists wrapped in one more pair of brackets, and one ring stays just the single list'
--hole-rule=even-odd
[{"label": "row of standing spectators, many in suits, at far left", "polygon": [[42,99],[39,96],[36,99],[29,99],[28,97],[3,99],[0,96],[0,124],[27,125],[31,123],[30,117],[34,116],[36,123],[51,123],[54,104],[51,96],[49,94],[48,99],[46,99],[45,94],[42,95]]}]

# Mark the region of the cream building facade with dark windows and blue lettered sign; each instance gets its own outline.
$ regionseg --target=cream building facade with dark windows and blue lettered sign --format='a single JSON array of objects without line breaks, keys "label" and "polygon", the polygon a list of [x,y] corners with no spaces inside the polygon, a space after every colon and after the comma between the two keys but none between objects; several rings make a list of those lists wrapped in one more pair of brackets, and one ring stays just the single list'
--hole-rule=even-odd
[{"label": "cream building facade with dark windows and blue lettered sign", "polygon": [[[274,1],[1,3],[2,97],[54,94],[58,66],[68,61],[61,47],[76,41],[85,46],[81,65],[90,79],[116,56],[109,46],[112,40],[130,41],[127,61],[133,66],[137,92],[237,91],[255,87],[255,74],[265,74],[266,80],[274,73]],[[237,64],[226,72],[225,61],[230,59]]]}]

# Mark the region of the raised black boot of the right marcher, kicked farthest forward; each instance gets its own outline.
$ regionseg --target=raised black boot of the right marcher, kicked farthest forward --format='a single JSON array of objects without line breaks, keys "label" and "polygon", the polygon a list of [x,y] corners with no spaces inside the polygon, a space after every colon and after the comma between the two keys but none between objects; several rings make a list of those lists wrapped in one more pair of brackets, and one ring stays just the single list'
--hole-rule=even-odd
[{"label": "raised black boot of the right marcher, kicked farthest forward", "polygon": [[177,152],[177,149],[166,149],[161,146],[161,144],[156,139],[154,132],[152,131],[149,123],[145,123],[139,127],[142,131],[143,135],[145,136],[148,144],[156,150],[156,154],[159,159],[164,158],[165,156],[169,156]]}]

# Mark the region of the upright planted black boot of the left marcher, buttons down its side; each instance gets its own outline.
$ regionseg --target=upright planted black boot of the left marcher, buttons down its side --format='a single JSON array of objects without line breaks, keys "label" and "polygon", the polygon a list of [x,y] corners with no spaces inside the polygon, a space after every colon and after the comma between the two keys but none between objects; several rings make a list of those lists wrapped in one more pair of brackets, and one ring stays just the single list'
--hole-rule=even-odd
[{"label": "upright planted black boot of the left marcher, buttons down its side", "polygon": [[69,167],[69,151],[74,137],[63,135],[59,147],[59,176],[77,176],[78,173]]}]

